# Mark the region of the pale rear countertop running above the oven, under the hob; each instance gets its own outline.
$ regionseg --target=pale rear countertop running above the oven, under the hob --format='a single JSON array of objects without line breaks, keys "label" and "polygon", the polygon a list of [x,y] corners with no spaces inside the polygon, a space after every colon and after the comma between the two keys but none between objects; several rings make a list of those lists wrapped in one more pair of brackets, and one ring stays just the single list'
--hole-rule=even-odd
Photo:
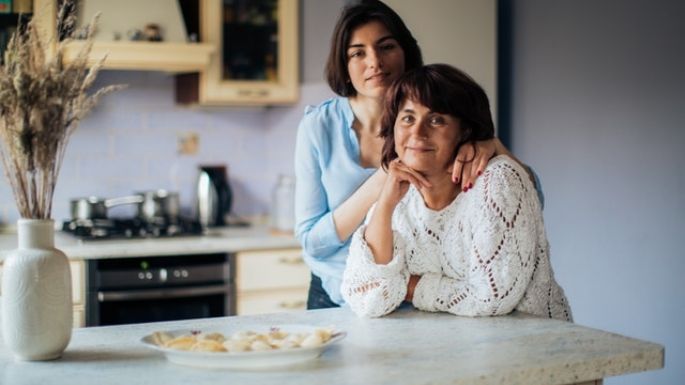
[{"label": "pale rear countertop running above the oven, under the hob", "polygon": [[[0,261],[16,247],[16,234],[0,234]],[[265,225],[254,225],[216,229],[202,236],[94,241],[56,232],[55,247],[71,259],[101,259],[286,249],[300,244],[292,235],[274,234]]]}]

